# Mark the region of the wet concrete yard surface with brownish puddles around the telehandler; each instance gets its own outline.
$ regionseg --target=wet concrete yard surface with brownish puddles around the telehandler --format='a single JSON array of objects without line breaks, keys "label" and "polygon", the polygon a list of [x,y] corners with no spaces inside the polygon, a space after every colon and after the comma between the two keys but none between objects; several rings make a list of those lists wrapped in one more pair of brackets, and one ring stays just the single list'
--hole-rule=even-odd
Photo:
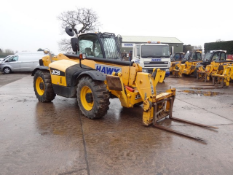
[{"label": "wet concrete yard surface with brownish puddles around the telehandler", "polygon": [[[12,76],[11,76],[12,75]],[[29,74],[0,82],[1,175],[232,175],[233,86],[214,88],[194,78],[166,78],[158,92],[177,88],[173,116],[216,131],[162,121],[206,143],[142,125],[142,107],[112,99],[106,116],[90,120],[76,99],[39,103]],[[18,76],[18,80],[16,80]],[[10,79],[14,79],[10,81]]]}]

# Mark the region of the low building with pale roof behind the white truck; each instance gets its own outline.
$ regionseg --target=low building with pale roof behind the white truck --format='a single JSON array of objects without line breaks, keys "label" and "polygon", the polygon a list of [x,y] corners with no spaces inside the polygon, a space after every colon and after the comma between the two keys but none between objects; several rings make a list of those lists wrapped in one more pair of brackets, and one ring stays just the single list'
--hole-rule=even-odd
[{"label": "low building with pale roof behind the white truck", "polygon": [[160,37],[160,36],[122,36],[121,53],[129,53],[132,51],[133,44],[145,44],[148,41],[160,41],[161,44],[169,44],[170,51],[172,48],[174,53],[183,52],[183,43],[176,37]]}]

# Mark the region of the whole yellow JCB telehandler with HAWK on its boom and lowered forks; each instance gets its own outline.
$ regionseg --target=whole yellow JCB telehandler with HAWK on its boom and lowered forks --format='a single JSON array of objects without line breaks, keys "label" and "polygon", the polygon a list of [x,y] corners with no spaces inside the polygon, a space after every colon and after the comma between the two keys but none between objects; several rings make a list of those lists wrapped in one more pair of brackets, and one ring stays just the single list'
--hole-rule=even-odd
[{"label": "whole yellow JCB telehandler with HAWK on its boom and lowered forks", "polygon": [[179,122],[215,128],[173,117],[176,89],[156,93],[156,85],[163,82],[166,72],[154,68],[152,73],[144,73],[139,64],[123,61],[119,36],[101,32],[78,34],[70,27],[66,27],[66,33],[72,37],[73,53],[52,55],[45,50],[48,55],[39,60],[40,66],[32,72],[39,102],[51,102],[56,95],[76,98],[84,116],[98,119],[107,113],[109,99],[118,98],[121,106],[126,108],[143,103],[142,122],[145,126],[153,124],[156,128],[197,141],[204,140],[161,126],[159,122],[169,117]]}]

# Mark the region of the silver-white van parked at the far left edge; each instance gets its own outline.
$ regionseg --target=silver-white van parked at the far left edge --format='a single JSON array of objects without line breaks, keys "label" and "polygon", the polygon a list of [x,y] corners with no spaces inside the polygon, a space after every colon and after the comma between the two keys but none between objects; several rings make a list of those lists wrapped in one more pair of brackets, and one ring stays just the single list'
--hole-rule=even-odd
[{"label": "silver-white van parked at the far left edge", "polygon": [[45,56],[43,51],[22,52],[5,58],[0,63],[0,70],[8,74],[10,72],[33,71],[39,66],[39,59]]}]

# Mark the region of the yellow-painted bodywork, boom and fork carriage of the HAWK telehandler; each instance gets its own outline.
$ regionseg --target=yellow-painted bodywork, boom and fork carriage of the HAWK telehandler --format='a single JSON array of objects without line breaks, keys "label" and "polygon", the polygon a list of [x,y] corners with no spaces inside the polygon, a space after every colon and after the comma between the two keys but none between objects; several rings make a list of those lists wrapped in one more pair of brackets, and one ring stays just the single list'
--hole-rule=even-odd
[{"label": "yellow-painted bodywork, boom and fork carriage of the HAWK telehandler", "polygon": [[[48,66],[50,72],[54,69],[66,72],[71,66],[79,65],[80,59],[67,57],[59,54],[55,57],[45,56],[42,58],[44,66]],[[143,124],[148,126],[152,124],[153,118],[161,118],[169,115],[172,109],[171,101],[175,99],[175,89],[167,90],[165,93],[156,93],[157,83],[162,83],[165,77],[165,71],[154,69],[152,74],[142,72],[142,67],[134,63],[132,66],[104,63],[93,60],[81,60],[81,65],[96,69],[97,65],[107,65],[121,69],[121,72],[107,75],[105,84],[108,91],[117,97],[121,105],[126,108],[132,108],[134,104],[143,102]],[[66,75],[60,76],[51,73],[52,84],[67,86]],[[156,109],[155,109],[156,108]],[[155,111],[156,114],[155,114]]]}]

